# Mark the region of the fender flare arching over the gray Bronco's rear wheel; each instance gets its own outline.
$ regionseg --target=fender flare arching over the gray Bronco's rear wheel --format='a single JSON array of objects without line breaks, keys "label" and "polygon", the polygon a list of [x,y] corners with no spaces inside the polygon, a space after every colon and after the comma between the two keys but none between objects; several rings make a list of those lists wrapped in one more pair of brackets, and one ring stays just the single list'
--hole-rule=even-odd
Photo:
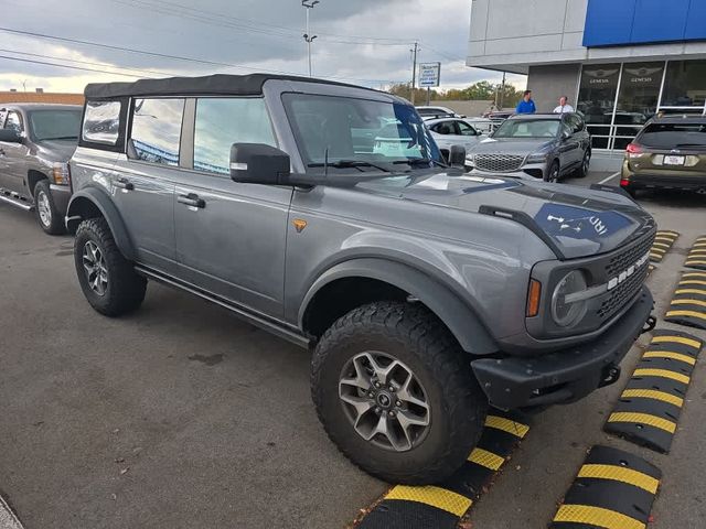
[{"label": "fender flare arching over the gray Bronco's rear wheel", "polygon": [[122,253],[126,259],[133,261],[136,258],[135,246],[128,235],[122,216],[113,199],[97,187],[85,187],[74,193],[71,197],[66,210],[66,229],[68,233],[75,233],[78,224],[85,218],[84,212],[87,203],[96,207],[108,223],[108,227],[120,253]]}]

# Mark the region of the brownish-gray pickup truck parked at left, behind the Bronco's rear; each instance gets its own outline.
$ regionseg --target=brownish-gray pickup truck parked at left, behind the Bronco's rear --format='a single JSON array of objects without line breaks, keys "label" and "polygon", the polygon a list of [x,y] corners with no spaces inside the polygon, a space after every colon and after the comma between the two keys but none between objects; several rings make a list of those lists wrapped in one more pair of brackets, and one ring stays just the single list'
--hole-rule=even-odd
[{"label": "brownish-gray pickup truck parked at left, behind the Bronco's rear", "polygon": [[0,201],[34,209],[47,234],[64,231],[71,197],[66,162],[76,149],[81,112],[75,105],[0,108]]}]

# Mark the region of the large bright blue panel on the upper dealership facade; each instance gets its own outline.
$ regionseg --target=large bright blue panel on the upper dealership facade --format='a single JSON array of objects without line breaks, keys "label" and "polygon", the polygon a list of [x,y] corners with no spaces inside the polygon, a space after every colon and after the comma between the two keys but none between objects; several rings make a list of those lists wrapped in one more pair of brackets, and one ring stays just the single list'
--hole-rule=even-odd
[{"label": "large bright blue panel on the upper dealership facade", "polygon": [[706,0],[588,0],[584,46],[706,41]]}]

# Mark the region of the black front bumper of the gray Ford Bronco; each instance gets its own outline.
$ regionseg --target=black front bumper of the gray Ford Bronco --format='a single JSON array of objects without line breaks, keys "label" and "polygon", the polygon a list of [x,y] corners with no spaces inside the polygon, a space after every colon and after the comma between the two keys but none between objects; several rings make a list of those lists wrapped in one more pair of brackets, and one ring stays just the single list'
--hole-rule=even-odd
[{"label": "black front bumper of the gray Ford Bronco", "polygon": [[619,364],[642,333],[653,307],[646,287],[621,320],[593,342],[537,357],[471,363],[491,404],[532,408],[579,400],[617,380]]}]

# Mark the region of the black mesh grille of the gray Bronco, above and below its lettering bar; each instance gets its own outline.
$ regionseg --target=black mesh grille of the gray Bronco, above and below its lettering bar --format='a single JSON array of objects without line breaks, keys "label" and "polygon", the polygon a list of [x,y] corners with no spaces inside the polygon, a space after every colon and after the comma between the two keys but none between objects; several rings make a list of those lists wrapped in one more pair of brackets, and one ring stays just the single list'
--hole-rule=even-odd
[{"label": "black mesh grille of the gray Bronco, above and below its lettering bar", "polygon": [[[606,276],[608,279],[618,278],[621,272],[628,270],[631,266],[649,253],[652,242],[654,242],[654,234],[643,237],[643,240],[640,241],[639,245],[612,257],[606,264]],[[628,277],[624,281],[619,283],[618,287],[611,290],[608,298],[606,298],[601,303],[600,309],[598,309],[598,317],[600,320],[609,320],[620,309],[622,309],[622,306],[640,291],[642,283],[644,283],[644,280],[648,277],[649,270],[650,264],[648,261],[637,270],[635,273]]]}]

